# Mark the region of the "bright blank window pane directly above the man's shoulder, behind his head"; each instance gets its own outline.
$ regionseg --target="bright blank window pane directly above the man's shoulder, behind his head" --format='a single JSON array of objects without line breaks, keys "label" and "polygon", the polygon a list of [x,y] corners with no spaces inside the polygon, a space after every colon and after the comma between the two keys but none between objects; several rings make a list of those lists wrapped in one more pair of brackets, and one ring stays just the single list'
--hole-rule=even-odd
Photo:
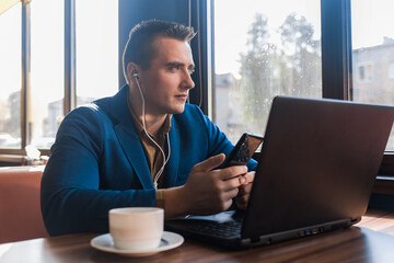
[{"label": "bright blank window pane directly above the man's shoulder, behind his head", "polygon": [[76,31],[79,106],[118,90],[118,1],[76,1]]}]

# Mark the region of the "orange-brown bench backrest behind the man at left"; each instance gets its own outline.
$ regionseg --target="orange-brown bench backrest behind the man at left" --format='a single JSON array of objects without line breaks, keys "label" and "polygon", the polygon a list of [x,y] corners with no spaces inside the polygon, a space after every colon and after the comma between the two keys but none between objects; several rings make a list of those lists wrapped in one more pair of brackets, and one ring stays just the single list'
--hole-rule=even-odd
[{"label": "orange-brown bench backrest behind the man at left", "polygon": [[39,205],[44,167],[0,168],[0,243],[48,237]]}]

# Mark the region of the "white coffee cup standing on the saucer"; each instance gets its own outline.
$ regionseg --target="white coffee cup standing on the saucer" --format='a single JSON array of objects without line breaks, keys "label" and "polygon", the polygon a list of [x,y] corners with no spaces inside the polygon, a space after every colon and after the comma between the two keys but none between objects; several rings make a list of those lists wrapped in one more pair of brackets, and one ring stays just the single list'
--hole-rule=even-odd
[{"label": "white coffee cup standing on the saucer", "polygon": [[159,207],[124,207],[108,211],[114,247],[121,250],[158,248],[163,235],[164,211]]}]

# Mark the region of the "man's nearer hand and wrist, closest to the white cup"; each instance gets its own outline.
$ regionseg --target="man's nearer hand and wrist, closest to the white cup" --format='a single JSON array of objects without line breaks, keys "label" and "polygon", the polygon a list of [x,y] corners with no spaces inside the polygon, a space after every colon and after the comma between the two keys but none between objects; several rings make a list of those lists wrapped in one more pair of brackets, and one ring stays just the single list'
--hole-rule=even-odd
[{"label": "man's nearer hand and wrist, closest to the white cup", "polygon": [[210,215],[230,208],[241,185],[239,175],[246,174],[247,168],[235,165],[213,170],[224,159],[221,153],[197,163],[185,185],[169,188],[165,193],[165,217]]}]

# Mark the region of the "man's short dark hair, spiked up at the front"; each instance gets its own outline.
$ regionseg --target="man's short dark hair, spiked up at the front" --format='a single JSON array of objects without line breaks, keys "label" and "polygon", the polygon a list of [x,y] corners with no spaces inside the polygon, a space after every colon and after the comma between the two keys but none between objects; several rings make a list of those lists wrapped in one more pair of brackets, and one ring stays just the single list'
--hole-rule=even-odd
[{"label": "man's short dark hair, spiked up at the front", "polygon": [[135,62],[143,70],[149,69],[158,53],[155,39],[159,36],[190,42],[196,35],[193,27],[160,20],[142,21],[130,31],[123,54],[123,70],[127,81],[127,65]]}]

